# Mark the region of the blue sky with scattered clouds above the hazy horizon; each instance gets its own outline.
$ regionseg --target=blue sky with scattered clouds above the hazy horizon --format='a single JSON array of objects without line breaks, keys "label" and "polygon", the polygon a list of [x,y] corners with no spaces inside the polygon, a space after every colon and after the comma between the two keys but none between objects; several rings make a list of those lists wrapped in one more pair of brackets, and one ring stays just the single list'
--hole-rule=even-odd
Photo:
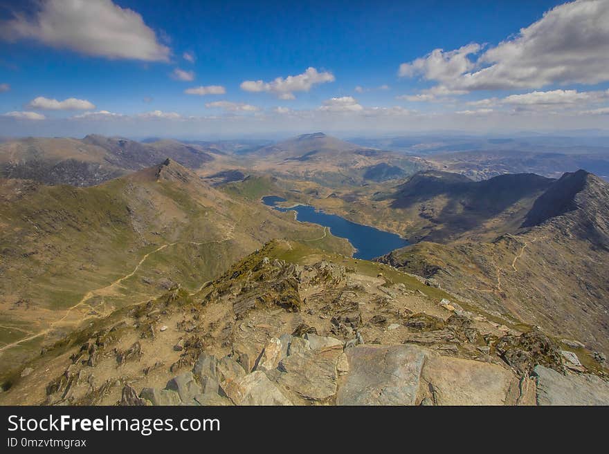
[{"label": "blue sky with scattered clouds above the hazy horizon", "polygon": [[609,0],[0,1],[0,135],[603,129],[608,24]]}]

